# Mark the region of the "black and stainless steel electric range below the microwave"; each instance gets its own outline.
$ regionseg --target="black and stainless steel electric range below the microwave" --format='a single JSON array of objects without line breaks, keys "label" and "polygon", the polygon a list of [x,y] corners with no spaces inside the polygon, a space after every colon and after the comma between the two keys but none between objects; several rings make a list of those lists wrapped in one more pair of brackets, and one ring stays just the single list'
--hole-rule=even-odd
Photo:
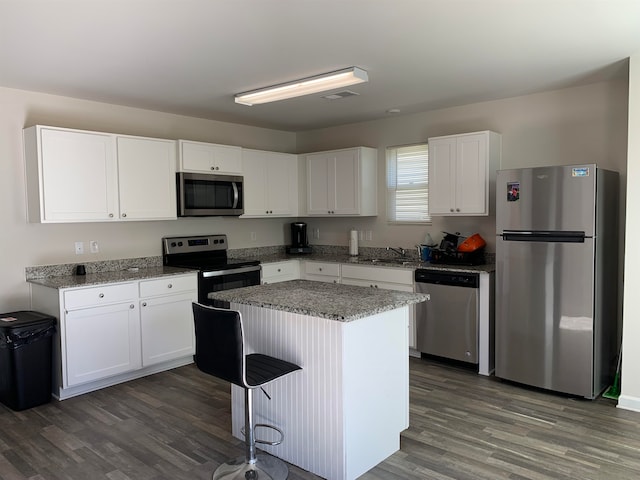
[{"label": "black and stainless steel electric range below the microwave", "polygon": [[162,262],[198,270],[198,302],[221,306],[207,298],[210,292],[260,285],[260,261],[227,257],[226,235],[164,237]]}]

